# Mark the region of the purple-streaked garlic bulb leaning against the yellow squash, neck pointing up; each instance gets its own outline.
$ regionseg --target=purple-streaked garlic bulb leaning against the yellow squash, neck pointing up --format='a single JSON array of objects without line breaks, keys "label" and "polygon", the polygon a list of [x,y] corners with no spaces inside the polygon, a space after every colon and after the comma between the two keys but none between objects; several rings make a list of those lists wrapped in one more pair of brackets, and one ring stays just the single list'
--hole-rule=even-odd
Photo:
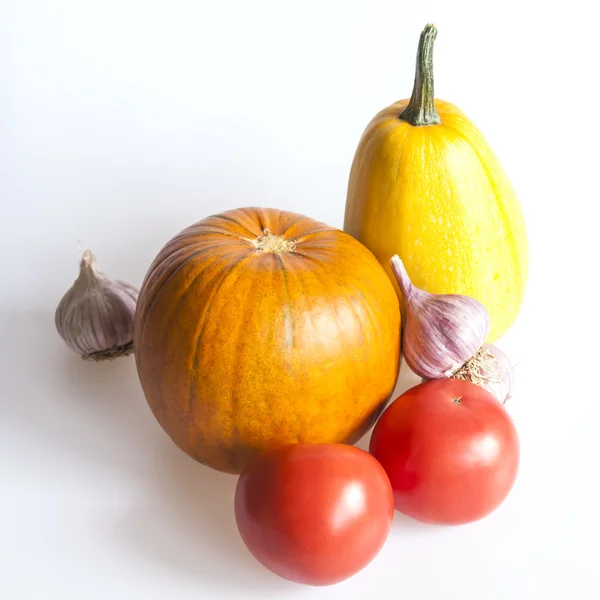
[{"label": "purple-streaked garlic bulb leaning against the yellow squash, neck pointing up", "polygon": [[406,363],[425,379],[449,377],[484,344],[490,329],[487,309],[469,296],[432,294],[416,287],[397,255],[391,268],[404,302]]}]

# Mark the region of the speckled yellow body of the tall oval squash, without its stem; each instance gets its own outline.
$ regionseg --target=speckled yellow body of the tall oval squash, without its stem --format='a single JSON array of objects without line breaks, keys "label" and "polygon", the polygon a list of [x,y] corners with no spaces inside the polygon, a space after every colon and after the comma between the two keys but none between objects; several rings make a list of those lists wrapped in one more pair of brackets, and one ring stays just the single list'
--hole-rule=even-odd
[{"label": "speckled yellow body of the tall oval squash, without its stem", "polygon": [[375,254],[392,280],[389,261],[398,254],[415,285],[477,298],[490,313],[493,342],[514,322],[527,279],[518,199],[486,140],[458,108],[436,100],[441,124],[414,127],[398,118],[407,104],[384,109],[365,130],[350,173],[344,230]]}]

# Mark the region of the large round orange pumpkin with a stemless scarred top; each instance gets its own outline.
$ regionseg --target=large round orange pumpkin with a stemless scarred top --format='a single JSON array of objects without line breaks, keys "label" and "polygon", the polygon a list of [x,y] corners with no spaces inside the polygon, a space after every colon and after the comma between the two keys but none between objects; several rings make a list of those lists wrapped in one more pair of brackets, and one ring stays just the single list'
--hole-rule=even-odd
[{"label": "large round orange pumpkin with a stemless scarred top", "polygon": [[360,439],[394,389],[399,345],[397,296],[369,250],[259,208],[168,242],[134,328],[156,419],[184,452],[230,473],[275,445]]}]

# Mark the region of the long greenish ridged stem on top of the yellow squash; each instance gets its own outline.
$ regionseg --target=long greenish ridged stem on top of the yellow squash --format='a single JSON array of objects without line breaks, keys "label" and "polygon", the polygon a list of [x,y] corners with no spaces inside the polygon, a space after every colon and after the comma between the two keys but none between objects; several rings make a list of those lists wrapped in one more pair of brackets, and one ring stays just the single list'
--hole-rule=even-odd
[{"label": "long greenish ridged stem on top of the yellow squash", "polygon": [[414,127],[438,125],[442,122],[435,110],[433,93],[433,42],[436,36],[437,29],[432,24],[426,25],[421,32],[413,93],[408,106],[398,117]]}]

